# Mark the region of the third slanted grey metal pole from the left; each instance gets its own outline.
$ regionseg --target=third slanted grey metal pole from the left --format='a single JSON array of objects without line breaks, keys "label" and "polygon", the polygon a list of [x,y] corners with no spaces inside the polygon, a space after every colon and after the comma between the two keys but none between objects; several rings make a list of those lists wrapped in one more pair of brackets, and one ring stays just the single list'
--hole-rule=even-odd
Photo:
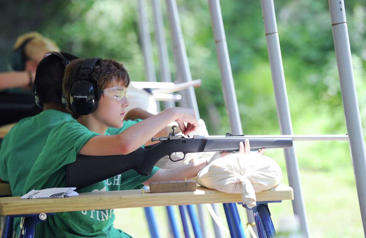
[{"label": "third slanted grey metal pole from the left", "polygon": [[[167,0],[167,9],[169,15],[170,28],[173,37],[173,48],[175,49],[175,53],[177,54],[176,65],[177,68],[179,68],[178,72],[184,82],[189,82],[192,81],[192,75],[188,64],[186,46],[184,46],[184,39],[182,34],[182,28],[180,27],[180,20],[176,1]],[[186,89],[184,96],[188,100],[189,107],[194,109],[197,118],[200,118],[194,88],[190,87]]]}]

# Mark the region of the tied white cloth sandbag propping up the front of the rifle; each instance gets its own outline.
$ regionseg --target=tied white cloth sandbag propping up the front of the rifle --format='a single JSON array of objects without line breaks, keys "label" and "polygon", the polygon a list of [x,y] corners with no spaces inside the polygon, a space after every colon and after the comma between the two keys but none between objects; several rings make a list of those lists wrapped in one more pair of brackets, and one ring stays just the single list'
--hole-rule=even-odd
[{"label": "tied white cloth sandbag propping up the front of the rifle", "polygon": [[197,183],[221,192],[242,193],[243,203],[256,206],[255,193],[280,183],[282,171],[271,158],[259,153],[230,154],[212,161],[197,175]]}]

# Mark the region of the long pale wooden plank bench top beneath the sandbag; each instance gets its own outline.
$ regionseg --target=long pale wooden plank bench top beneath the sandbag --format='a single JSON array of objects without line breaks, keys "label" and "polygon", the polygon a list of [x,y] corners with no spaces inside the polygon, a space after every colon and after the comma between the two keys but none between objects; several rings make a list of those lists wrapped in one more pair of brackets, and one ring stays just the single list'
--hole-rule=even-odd
[{"label": "long pale wooden plank bench top beneath the sandbag", "polygon": [[[279,184],[276,187],[256,193],[257,201],[294,199],[291,187]],[[102,210],[111,208],[154,207],[205,203],[234,203],[242,200],[241,194],[224,193],[205,187],[194,192],[150,193],[145,189],[89,192],[79,196],[53,199],[20,199],[1,197],[0,215],[34,214],[41,212],[67,212]]]}]

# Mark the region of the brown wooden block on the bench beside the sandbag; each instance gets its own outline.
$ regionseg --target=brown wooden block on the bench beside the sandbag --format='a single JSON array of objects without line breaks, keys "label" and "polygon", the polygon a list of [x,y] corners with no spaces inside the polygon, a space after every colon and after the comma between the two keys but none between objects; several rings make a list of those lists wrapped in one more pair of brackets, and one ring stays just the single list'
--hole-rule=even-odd
[{"label": "brown wooden block on the bench beside the sandbag", "polygon": [[164,181],[150,183],[151,193],[160,192],[191,192],[197,190],[197,183],[193,180],[188,181]]}]

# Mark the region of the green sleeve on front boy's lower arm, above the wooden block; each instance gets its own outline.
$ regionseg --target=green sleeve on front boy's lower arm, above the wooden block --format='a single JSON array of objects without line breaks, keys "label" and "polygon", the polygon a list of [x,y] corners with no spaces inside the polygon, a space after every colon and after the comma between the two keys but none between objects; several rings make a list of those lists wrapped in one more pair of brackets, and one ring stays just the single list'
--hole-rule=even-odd
[{"label": "green sleeve on front boy's lower arm, above the wooden block", "polygon": [[119,190],[141,189],[144,186],[142,183],[153,176],[159,169],[159,167],[154,166],[153,171],[149,176],[141,175],[135,170],[130,170],[121,174],[122,177]]}]

